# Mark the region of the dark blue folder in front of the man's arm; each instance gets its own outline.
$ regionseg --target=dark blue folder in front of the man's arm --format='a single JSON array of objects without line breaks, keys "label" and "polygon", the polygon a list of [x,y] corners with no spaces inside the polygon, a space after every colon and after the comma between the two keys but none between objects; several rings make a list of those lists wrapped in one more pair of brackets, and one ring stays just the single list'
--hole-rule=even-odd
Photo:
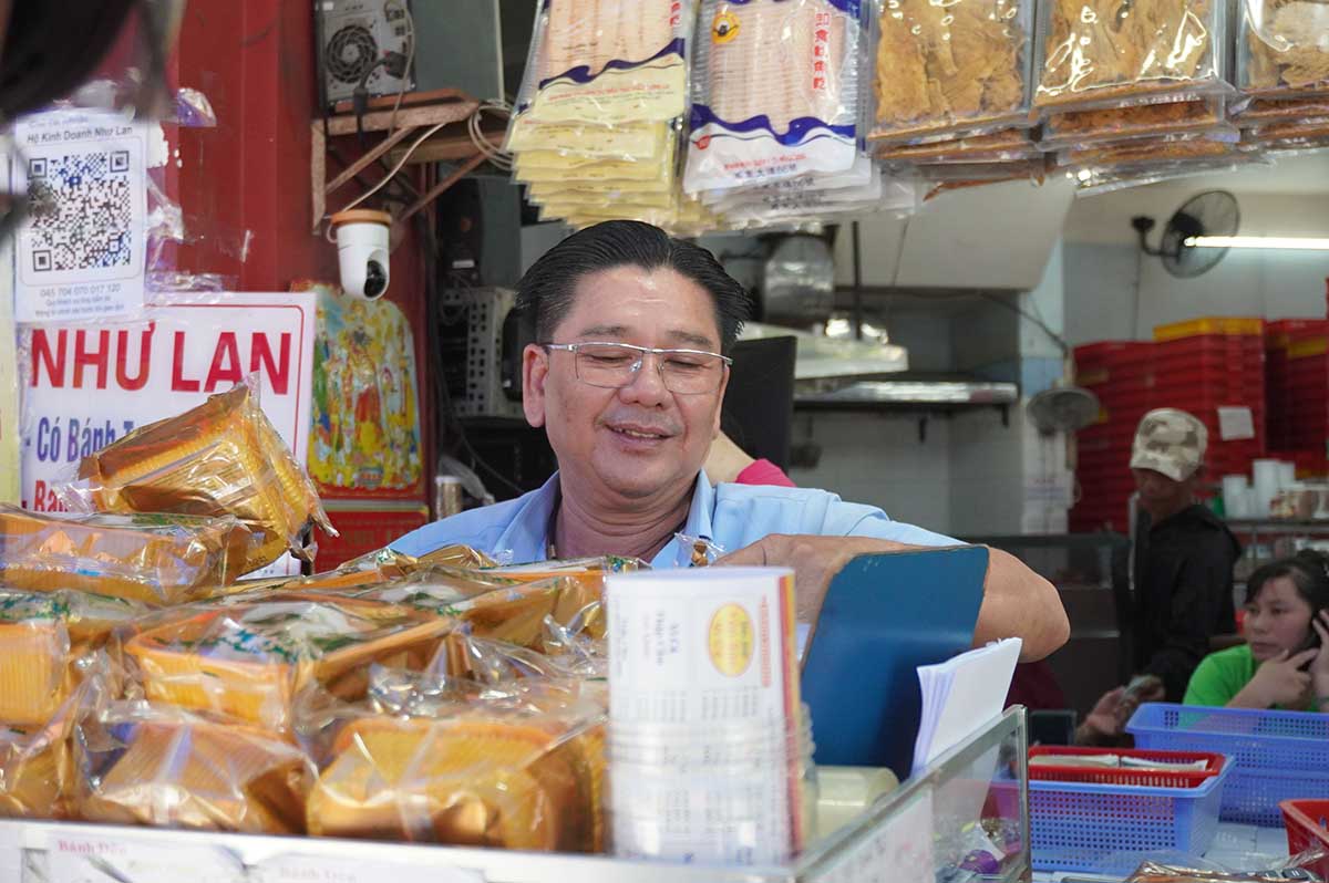
[{"label": "dark blue folder in front of the man's arm", "polygon": [[801,681],[817,763],[909,777],[922,704],[916,669],[971,647],[986,575],[987,550],[957,546],[863,555],[831,580]]}]

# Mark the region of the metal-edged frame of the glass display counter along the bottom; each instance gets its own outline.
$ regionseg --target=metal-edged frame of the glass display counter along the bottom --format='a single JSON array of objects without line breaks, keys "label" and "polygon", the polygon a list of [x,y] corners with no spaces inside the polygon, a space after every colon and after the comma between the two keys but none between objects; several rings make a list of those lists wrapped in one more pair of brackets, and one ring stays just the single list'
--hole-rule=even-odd
[{"label": "metal-edged frame of the glass display counter along the bottom", "polygon": [[[962,855],[948,851],[948,842],[973,827],[977,818],[946,815],[948,806],[991,806],[995,794],[1018,818],[1019,851],[1006,860],[999,875],[981,876],[986,883],[1021,883],[1031,879],[1029,838],[1029,741],[1025,709],[1007,709],[968,741],[942,756],[928,770],[881,797],[852,822],[809,847],[789,867],[718,867],[625,860],[603,855],[520,852],[510,850],[384,843],[332,838],[218,834],[150,827],[0,819],[0,880],[4,883],[73,883],[47,872],[47,852],[57,838],[120,838],[144,848],[171,846],[221,847],[238,856],[249,880],[262,880],[266,860],[288,855],[316,855],[344,860],[348,867],[372,872],[375,863],[421,870],[470,871],[489,883],[889,883],[902,880],[900,868],[881,860],[884,843],[912,838],[917,846],[920,819],[902,833],[900,823],[928,801],[934,807],[930,834],[934,863],[946,867]],[[1001,801],[998,801],[1001,803]],[[361,879],[379,879],[361,876]],[[445,879],[440,876],[440,879]],[[910,883],[917,883],[910,878]]]}]

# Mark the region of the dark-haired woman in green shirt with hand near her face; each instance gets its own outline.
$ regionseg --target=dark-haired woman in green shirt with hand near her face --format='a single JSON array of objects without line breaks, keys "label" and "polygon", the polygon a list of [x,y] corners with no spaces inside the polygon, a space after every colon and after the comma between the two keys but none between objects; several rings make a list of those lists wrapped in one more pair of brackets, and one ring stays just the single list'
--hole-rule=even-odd
[{"label": "dark-haired woman in green shirt with hand near her face", "polygon": [[1247,643],[1200,661],[1187,705],[1329,713],[1329,558],[1313,551],[1247,580]]}]

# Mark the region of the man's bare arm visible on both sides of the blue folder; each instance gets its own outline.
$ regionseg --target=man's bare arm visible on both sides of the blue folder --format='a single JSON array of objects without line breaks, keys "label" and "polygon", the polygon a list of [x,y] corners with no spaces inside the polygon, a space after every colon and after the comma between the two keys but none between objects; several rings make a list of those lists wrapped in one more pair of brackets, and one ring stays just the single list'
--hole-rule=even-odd
[{"label": "man's bare arm visible on both sides of the blue folder", "polygon": [[[816,631],[827,588],[845,564],[859,555],[901,551],[934,550],[865,536],[771,534],[726,555],[716,564],[792,568],[799,621],[811,624]],[[974,647],[1002,637],[1019,637],[1023,640],[1021,661],[1043,659],[1070,636],[1070,624],[1057,590],[1013,555],[998,548],[989,548],[987,552],[987,578],[974,625]],[[917,587],[901,587],[900,591],[917,591]]]}]

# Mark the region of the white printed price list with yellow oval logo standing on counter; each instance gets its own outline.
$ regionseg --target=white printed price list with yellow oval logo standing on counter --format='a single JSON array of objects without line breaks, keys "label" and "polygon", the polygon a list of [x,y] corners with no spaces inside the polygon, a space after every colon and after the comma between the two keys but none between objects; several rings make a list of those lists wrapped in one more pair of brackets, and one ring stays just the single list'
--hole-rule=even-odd
[{"label": "white printed price list with yellow oval logo standing on counter", "polygon": [[615,574],[609,822],[615,855],[780,864],[801,848],[811,721],[799,701],[793,574]]}]

